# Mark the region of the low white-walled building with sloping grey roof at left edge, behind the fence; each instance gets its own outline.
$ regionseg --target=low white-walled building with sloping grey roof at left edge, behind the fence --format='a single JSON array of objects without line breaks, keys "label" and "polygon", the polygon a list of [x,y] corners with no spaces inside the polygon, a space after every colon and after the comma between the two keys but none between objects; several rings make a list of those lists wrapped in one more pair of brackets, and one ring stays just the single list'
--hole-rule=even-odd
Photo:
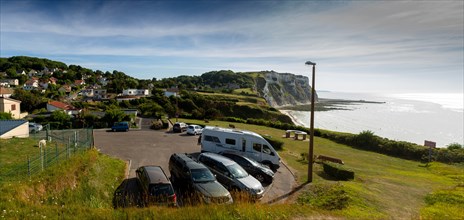
[{"label": "low white-walled building with sloping grey roof at left edge, behind the fence", "polygon": [[29,122],[26,120],[1,120],[0,139],[29,137]]}]

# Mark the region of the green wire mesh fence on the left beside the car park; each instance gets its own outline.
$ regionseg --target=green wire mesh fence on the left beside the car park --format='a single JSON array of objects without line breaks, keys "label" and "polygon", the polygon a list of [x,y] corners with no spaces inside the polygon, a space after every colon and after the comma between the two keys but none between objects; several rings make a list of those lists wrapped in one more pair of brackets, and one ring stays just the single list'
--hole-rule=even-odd
[{"label": "green wire mesh fence on the left beside the car park", "polygon": [[93,129],[91,128],[50,130],[50,126],[45,125],[42,131],[30,134],[29,137],[44,140],[45,144],[39,144],[40,151],[37,154],[29,155],[23,163],[0,174],[0,180],[16,180],[33,176],[93,147]]}]

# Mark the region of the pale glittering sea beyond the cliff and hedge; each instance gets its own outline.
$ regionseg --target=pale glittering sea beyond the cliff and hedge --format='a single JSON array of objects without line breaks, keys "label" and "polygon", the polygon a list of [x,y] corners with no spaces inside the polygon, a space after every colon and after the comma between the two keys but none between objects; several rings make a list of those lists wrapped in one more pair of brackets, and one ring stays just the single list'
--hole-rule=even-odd
[{"label": "pale glittering sea beyond the cliff and hedge", "polygon": [[[378,103],[350,103],[343,110],[316,111],[314,127],[358,134],[369,130],[391,140],[437,147],[464,145],[464,95],[462,93],[367,94],[318,92],[319,98],[364,100]],[[317,103],[316,103],[317,105]],[[293,121],[305,127],[310,112],[285,110]]]}]

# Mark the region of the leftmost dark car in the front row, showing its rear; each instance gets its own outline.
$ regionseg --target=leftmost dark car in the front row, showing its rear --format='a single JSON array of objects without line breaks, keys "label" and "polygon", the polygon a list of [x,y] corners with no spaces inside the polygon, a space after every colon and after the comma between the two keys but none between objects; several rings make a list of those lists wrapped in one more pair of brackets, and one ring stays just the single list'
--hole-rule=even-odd
[{"label": "leftmost dark car in the front row, showing its rear", "polygon": [[145,205],[177,206],[177,196],[160,166],[142,166],[136,171]]}]

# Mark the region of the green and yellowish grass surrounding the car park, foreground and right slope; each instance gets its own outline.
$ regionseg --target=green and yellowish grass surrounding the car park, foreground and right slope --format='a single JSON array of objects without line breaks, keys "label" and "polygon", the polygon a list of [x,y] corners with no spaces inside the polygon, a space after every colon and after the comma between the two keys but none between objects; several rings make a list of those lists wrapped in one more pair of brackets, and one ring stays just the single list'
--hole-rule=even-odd
[{"label": "green and yellowish grass surrounding the car park, foreground and right slope", "polygon": [[[199,120],[183,121],[205,125],[204,121]],[[210,121],[207,125],[228,127],[229,124]],[[283,130],[232,124],[238,129],[282,140],[284,150],[279,152],[280,156],[291,167],[298,183],[305,184],[307,163],[301,160],[301,154],[308,151],[308,141],[286,139]],[[13,166],[22,161],[21,158],[37,149],[33,147],[35,142],[30,139],[0,140],[0,167],[4,167],[4,164]],[[112,195],[124,178],[125,164],[90,150],[30,178],[0,182],[0,218],[464,219],[462,164],[426,165],[353,149],[317,137],[314,152],[342,159],[345,166],[355,171],[355,179],[341,182],[330,180],[320,165],[315,164],[313,183],[304,185],[286,204],[238,203],[230,206],[115,210],[111,204]],[[307,197],[308,193],[312,197]],[[307,203],[296,202],[303,200]],[[341,201],[342,208],[333,208],[336,204],[332,203],[336,201]]]}]

